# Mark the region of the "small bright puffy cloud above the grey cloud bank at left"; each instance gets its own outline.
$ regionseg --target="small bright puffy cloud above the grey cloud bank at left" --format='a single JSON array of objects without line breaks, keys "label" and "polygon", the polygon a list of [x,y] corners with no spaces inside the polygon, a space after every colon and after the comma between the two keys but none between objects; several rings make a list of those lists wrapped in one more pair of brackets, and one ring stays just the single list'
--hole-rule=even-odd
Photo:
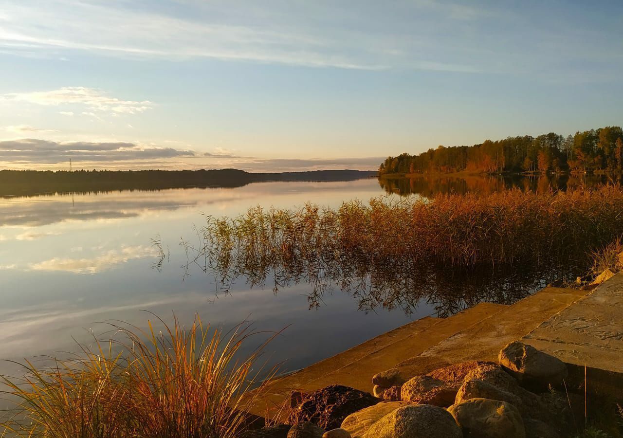
[{"label": "small bright puffy cloud above the grey cloud bank at left", "polygon": [[[80,105],[88,108],[88,112],[107,112],[117,114],[142,113],[153,107],[149,100],[121,100],[106,95],[102,90],[86,87],[62,87],[57,90],[8,93],[2,96],[4,100],[14,102],[28,102],[37,105]],[[73,115],[73,112],[61,112],[64,115]],[[85,112],[83,112],[85,113]]]}]

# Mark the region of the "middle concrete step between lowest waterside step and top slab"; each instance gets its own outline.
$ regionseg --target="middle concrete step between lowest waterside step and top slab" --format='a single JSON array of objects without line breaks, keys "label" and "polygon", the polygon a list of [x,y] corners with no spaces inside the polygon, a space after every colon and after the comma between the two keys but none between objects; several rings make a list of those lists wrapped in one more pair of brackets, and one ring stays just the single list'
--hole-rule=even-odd
[{"label": "middle concrete step between lowest waterside step and top slab", "polygon": [[506,344],[521,339],[584,295],[585,290],[547,287],[388,368],[398,368],[409,378],[463,361],[497,361],[499,351]]}]

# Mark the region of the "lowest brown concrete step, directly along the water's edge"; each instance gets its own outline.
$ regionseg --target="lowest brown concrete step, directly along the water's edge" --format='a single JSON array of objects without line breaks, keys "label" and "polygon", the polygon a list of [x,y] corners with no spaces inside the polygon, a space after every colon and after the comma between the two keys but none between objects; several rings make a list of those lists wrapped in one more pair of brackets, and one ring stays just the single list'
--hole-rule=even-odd
[{"label": "lowest brown concrete step, directly along the water's edge", "polygon": [[480,303],[449,318],[422,318],[376,336],[343,353],[281,378],[273,379],[267,395],[252,411],[274,416],[290,399],[291,391],[310,392],[341,384],[372,393],[372,376],[421,353],[465,327],[500,312],[504,305]]}]

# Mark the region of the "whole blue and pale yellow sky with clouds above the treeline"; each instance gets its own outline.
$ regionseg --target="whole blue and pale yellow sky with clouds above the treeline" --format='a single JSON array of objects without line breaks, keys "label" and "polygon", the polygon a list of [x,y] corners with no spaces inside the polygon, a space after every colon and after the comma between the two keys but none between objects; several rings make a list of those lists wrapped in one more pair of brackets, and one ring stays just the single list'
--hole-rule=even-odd
[{"label": "whole blue and pale yellow sky with clouds above the treeline", "polygon": [[623,2],[0,0],[0,168],[376,169],[623,118]]}]

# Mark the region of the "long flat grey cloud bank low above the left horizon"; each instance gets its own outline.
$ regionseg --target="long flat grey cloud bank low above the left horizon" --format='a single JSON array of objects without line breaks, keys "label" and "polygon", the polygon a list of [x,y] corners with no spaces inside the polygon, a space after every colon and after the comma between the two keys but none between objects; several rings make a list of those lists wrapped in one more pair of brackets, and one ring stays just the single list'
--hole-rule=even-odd
[{"label": "long flat grey cloud bank low above the left horizon", "polygon": [[191,156],[196,156],[196,153],[191,150],[160,148],[127,142],[57,142],[36,138],[0,141],[0,161],[21,163],[65,163],[70,158],[74,161],[108,163]]}]

